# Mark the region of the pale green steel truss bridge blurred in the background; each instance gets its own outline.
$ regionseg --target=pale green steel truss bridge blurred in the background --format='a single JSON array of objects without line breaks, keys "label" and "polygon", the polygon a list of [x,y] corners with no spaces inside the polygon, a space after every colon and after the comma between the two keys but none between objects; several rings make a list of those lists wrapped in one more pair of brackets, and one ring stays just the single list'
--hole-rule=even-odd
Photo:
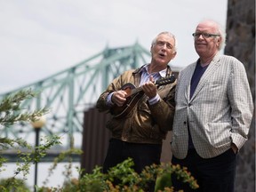
[{"label": "pale green steel truss bridge blurred in the background", "polygon": [[[50,108],[40,136],[60,135],[63,144],[61,150],[70,148],[71,140],[75,138],[75,147],[81,148],[84,111],[94,107],[100,93],[114,77],[124,70],[138,68],[148,61],[150,52],[138,43],[118,48],[107,47],[74,67],[12,92],[5,92],[0,95],[0,99],[20,90],[31,89],[40,92],[36,98],[25,100],[21,106],[30,111]],[[31,144],[36,143],[31,124],[20,123],[12,127],[0,127],[0,135],[13,139],[22,138]],[[60,149],[56,151],[60,153]],[[15,156],[12,151],[9,155]]]}]

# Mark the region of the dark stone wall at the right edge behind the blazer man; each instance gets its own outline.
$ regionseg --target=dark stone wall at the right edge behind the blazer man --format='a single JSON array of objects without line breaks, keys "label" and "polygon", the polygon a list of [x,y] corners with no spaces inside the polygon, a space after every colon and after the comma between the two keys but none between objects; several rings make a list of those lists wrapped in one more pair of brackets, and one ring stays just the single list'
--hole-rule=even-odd
[{"label": "dark stone wall at the right edge behind the blazer man", "polygon": [[[225,54],[244,63],[255,106],[255,0],[228,0]],[[255,109],[254,109],[255,111]],[[238,154],[236,191],[255,191],[255,112],[249,140]]]}]

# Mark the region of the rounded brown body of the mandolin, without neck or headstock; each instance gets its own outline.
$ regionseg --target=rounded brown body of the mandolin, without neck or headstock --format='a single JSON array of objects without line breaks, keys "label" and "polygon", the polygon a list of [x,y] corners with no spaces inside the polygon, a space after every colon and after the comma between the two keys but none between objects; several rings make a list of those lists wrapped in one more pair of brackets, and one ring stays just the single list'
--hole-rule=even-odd
[{"label": "rounded brown body of the mandolin, without neck or headstock", "polygon": [[121,89],[127,93],[127,97],[122,107],[115,105],[111,108],[110,112],[115,118],[127,116],[144,94],[142,91],[132,94],[132,90],[136,89],[136,87],[131,83],[124,84]]}]

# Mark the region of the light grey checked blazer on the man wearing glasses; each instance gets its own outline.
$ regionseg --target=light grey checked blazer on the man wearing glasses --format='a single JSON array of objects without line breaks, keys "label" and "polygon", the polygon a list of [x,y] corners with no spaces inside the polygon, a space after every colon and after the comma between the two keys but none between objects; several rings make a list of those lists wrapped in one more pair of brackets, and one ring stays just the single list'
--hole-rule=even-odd
[{"label": "light grey checked blazer on the man wearing glasses", "polygon": [[238,149],[247,140],[252,121],[252,93],[244,65],[236,58],[217,54],[189,98],[196,62],[180,71],[172,127],[172,155],[188,153],[188,124],[196,152],[203,158]]}]

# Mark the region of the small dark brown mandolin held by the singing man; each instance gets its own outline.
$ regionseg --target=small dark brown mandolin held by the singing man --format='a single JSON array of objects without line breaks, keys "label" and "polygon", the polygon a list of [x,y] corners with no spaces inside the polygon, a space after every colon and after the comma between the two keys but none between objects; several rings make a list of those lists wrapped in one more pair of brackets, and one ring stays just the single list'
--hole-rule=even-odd
[{"label": "small dark brown mandolin held by the singing man", "polygon": [[[175,76],[165,76],[162,78],[159,78],[154,82],[154,84],[161,86],[164,84],[172,84],[176,80]],[[136,88],[134,84],[128,83],[124,84],[121,87],[121,90],[127,93],[126,101],[124,102],[124,105],[121,107],[118,107],[116,104],[110,109],[110,113],[115,118],[122,118],[124,116],[127,116],[132,108],[138,103],[140,98],[143,96],[144,92],[141,87]]]}]

